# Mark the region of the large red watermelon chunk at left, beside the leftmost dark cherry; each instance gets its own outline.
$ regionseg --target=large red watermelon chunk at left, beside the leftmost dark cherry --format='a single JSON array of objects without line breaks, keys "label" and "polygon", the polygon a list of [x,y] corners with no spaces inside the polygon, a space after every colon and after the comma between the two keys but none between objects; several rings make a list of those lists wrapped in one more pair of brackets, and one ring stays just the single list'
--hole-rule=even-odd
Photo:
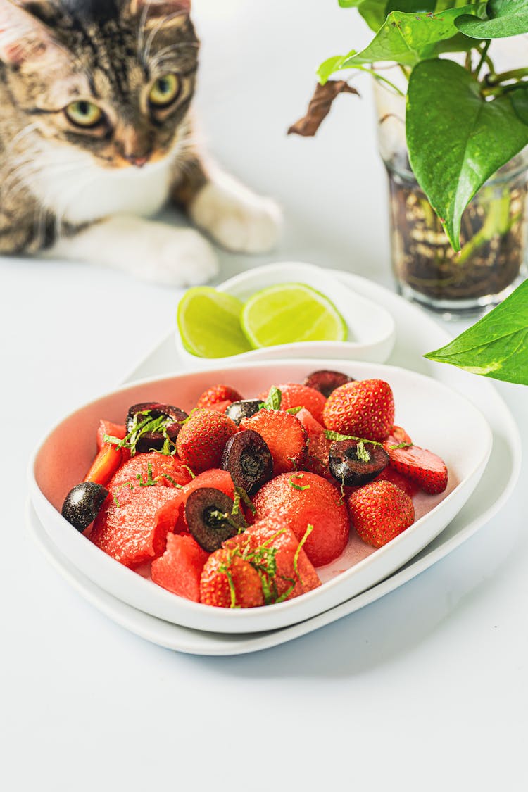
[{"label": "large red watermelon chunk at left, beside the leftmost dark cherry", "polygon": [[104,501],[89,538],[116,561],[134,568],[164,552],[180,505],[180,489],[173,487],[119,489]]}]

